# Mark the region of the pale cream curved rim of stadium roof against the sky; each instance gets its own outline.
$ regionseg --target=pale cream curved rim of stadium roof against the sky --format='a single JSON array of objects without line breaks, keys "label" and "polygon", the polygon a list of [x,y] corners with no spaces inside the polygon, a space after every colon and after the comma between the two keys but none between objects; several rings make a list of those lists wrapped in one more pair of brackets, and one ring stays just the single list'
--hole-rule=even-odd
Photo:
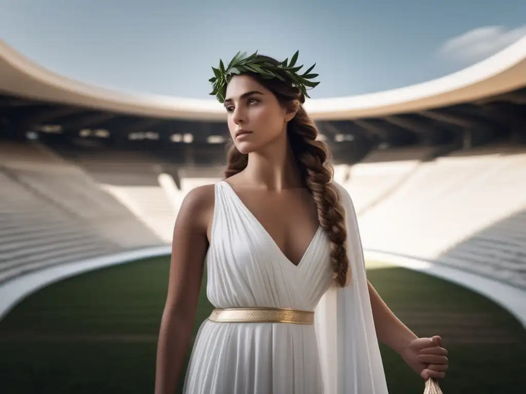
[{"label": "pale cream curved rim of stadium roof against the sky", "polygon": [[[353,97],[308,100],[316,120],[348,120],[451,106],[526,86],[526,37],[500,53],[446,77],[400,89]],[[223,120],[215,100],[124,94],[83,84],[28,60],[0,40],[0,90],[27,99],[121,113],[195,120]]]}]

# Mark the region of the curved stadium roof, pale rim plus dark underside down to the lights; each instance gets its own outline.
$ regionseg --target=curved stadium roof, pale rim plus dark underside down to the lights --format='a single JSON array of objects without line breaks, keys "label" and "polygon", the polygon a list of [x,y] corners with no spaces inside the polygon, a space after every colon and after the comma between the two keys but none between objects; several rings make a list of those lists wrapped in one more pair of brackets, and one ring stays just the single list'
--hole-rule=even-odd
[{"label": "curved stadium roof, pale rim plus dark underside down to the lights", "polygon": [[[526,37],[442,78],[360,96],[311,99],[305,107],[320,133],[342,149],[349,141],[387,147],[458,144],[466,132],[478,144],[511,135],[526,140]],[[226,111],[213,98],[90,86],[33,63],[0,40],[0,130],[19,135],[49,125],[69,135],[102,129],[111,138],[151,133],[152,139],[174,142],[191,134],[188,141],[209,142],[210,137],[228,139],[225,120]]]}]

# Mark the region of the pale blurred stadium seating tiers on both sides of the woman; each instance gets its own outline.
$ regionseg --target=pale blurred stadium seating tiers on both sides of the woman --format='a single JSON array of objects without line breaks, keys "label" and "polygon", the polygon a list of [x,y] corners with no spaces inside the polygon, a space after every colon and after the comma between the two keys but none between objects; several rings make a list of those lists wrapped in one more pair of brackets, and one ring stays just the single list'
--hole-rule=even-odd
[{"label": "pale blurred stadium seating tiers on both sides of the woman", "polygon": [[[167,244],[186,193],[220,167],[138,152],[0,144],[2,278],[88,256]],[[526,288],[526,153],[490,147],[433,158],[389,149],[337,165],[364,246]]]}]

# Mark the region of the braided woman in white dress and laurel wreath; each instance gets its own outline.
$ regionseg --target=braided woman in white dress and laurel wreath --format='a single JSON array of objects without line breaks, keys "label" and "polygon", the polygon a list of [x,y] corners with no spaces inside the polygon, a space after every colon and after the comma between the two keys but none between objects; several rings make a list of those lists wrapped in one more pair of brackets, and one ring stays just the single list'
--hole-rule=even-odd
[{"label": "braided woman in white dress and laurel wreath", "polygon": [[417,338],[367,281],[356,213],[332,181],[302,104],[312,67],[237,54],[214,69],[234,142],[225,180],[189,192],[174,229],[156,393],[173,393],[207,261],[217,308],[200,327],[185,393],[387,393],[378,340],[423,379],[440,337]]}]

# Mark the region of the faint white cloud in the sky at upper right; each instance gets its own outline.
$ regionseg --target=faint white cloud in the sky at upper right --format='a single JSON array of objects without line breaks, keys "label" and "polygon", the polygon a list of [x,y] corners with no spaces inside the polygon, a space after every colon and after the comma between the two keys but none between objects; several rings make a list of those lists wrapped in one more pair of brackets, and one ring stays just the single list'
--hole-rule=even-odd
[{"label": "faint white cloud in the sky at upper right", "polygon": [[517,42],[526,35],[526,25],[514,29],[483,26],[447,40],[439,53],[461,63],[476,63]]}]

